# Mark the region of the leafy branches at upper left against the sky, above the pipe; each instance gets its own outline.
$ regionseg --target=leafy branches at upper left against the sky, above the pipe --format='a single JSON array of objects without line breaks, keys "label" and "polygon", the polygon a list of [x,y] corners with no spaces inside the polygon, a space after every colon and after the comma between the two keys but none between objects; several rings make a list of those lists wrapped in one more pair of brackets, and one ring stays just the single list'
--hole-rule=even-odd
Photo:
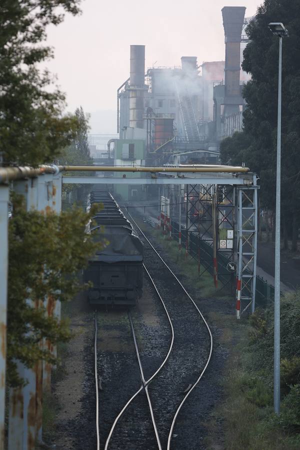
[{"label": "leafy branches at upper left against the sky, above the pipe", "polygon": [[0,13],[0,153],[4,163],[37,165],[50,161],[67,145],[76,119],[61,116],[64,95],[50,91],[47,70],[38,63],[52,57],[41,45],[48,24],[63,13],[77,14],[80,0],[1,0]]}]

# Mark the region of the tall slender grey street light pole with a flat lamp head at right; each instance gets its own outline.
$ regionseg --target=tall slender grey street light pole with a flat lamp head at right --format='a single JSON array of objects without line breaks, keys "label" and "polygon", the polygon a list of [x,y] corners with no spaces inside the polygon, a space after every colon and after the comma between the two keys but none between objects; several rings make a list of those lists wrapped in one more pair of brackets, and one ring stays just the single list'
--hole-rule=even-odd
[{"label": "tall slender grey street light pole with a flat lamp head at right", "polygon": [[275,212],[275,291],[274,291],[274,412],[280,412],[280,172],[281,172],[281,73],[282,73],[282,36],[287,29],[281,22],[268,24],[273,34],[279,37],[278,62],[278,110],[277,110],[277,156],[276,156],[276,212]]}]

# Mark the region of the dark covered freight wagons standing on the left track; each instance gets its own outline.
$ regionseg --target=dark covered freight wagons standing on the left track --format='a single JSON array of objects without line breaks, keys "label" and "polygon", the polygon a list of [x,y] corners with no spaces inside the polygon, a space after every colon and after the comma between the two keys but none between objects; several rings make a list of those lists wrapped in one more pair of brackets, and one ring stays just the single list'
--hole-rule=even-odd
[{"label": "dark covered freight wagons standing on the left track", "polygon": [[142,293],[143,245],[109,192],[92,191],[89,201],[103,208],[89,224],[93,239],[105,240],[89,258],[83,279],[91,281],[90,304],[135,304]]}]

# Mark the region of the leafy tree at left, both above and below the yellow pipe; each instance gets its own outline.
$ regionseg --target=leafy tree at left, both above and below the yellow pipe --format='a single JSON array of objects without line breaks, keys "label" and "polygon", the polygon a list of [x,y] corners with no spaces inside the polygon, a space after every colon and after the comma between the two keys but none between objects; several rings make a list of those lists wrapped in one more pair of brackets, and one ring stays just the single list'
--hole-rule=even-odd
[{"label": "leafy tree at left, both above and below the yellow pipe", "polygon": [[[83,136],[80,145],[86,152],[87,128],[82,110],[75,116],[62,116],[64,95],[58,89],[49,91],[51,76],[37,66],[52,56],[52,50],[41,44],[46,37],[46,25],[60,23],[64,12],[77,14],[79,2],[1,0],[0,163],[1,159],[6,165],[36,166],[49,162],[76,135]],[[92,209],[89,213],[72,209],[60,215],[43,215],[26,212],[19,198],[13,197],[12,203],[7,380],[16,386],[23,382],[16,371],[16,360],[27,367],[40,359],[53,362],[53,356],[41,349],[39,342],[46,338],[55,344],[69,337],[65,323],[46,314],[43,299],[48,296],[67,300],[82,288],[77,272],[103,242],[94,244],[91,235],[84,232],[86,222],[95,212]]]}]

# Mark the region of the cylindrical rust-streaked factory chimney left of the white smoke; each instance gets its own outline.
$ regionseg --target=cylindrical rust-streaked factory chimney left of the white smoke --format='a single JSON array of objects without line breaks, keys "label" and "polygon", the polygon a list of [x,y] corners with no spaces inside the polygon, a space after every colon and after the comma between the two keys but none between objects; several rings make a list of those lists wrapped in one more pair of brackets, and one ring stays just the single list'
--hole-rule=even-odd
[{"label": "cylindrical rust-streaked factory chimney left of the white smoke", "polygon": [[145,46],[130,45],[129,126],[143,128]]}]

